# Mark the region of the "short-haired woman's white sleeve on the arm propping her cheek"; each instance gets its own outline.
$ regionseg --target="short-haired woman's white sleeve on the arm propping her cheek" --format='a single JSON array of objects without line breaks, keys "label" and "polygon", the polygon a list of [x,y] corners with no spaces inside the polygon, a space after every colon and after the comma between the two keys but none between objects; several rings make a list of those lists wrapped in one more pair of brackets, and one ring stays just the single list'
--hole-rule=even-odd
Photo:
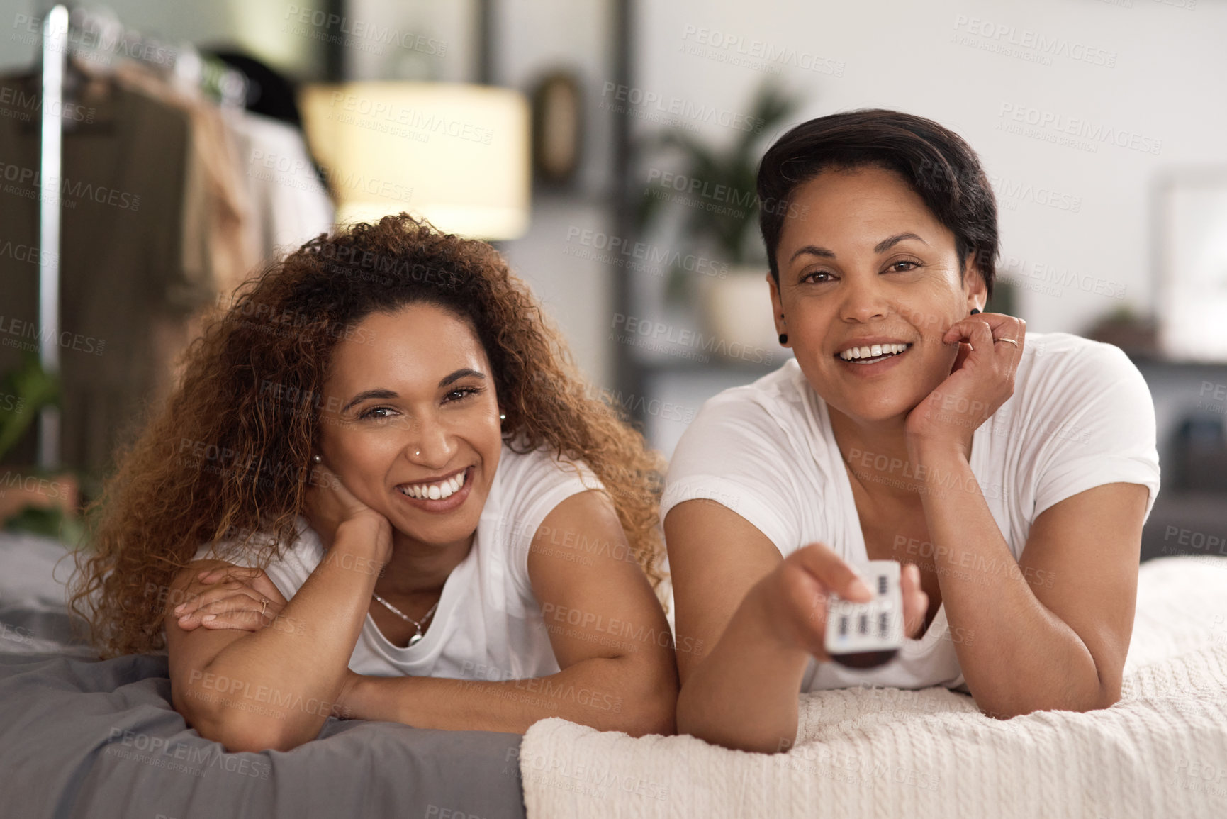
[{"label": "short-haired woman's white sleeve on the arm propping her cheek", "polygon": [[1096,344],[1071,354],[1042,398],[1048,410],[1034,433],[1036,511],[1103,484],[1142,484],[1146,516],[1160,486],[1155,404],[1137,367],[1118,347]]}]

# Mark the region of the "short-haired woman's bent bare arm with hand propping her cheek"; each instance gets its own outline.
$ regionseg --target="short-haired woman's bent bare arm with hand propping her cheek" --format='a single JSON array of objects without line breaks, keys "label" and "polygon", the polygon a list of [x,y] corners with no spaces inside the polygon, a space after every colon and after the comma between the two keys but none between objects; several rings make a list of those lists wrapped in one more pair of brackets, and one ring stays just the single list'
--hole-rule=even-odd
[{"label": "short-haired woman's bent bare arm with hand propping her cheek", "polygon": [[1026,322],[984,313],[956,322],[945,340],[967,344],[950,377],[908,414],[907,440],[909,460],[929,475],[920,497],[946,619],[977,637],[955,643],[967,686],[1002,718],[1108,707],[1120,699],[1133,634],[1148,490],[1107,484],[1053,505],[1016,562],[969,453],[974,430],[1014,394]]}]

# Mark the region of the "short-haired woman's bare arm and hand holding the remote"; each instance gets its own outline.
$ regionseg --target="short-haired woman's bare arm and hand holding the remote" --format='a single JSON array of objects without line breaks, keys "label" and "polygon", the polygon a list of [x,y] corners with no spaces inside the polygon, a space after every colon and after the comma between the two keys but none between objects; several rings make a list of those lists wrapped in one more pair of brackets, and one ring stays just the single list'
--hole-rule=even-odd
[{"label": "short-haired woman's bare arm and hand holding the remote", "polygon": [[[870,599],[869,589],[822,544],[782,559],[755,526],[712,501],[670,510],[665,540],[679,645],[710,647],[677,654],[677,731],[740,750],[788,749],[809,659],[828,659],[827,589],[854,600]],[[914,632],[928,607],[914,567],[903,575],[903,593]]]}]

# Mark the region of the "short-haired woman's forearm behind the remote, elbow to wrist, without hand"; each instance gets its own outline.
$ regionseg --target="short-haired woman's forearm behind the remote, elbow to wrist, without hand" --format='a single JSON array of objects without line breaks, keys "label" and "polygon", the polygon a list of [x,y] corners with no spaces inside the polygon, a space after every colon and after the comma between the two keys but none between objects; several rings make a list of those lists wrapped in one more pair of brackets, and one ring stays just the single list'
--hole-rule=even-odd
[{"label": "short-haired woman's forearm behind the remote, elbow to wrist, without hand", "polygon": [[677,697],[677,732],[760,753],[796,738],[798,699],[810,654],[782,643],[753,587]]}]

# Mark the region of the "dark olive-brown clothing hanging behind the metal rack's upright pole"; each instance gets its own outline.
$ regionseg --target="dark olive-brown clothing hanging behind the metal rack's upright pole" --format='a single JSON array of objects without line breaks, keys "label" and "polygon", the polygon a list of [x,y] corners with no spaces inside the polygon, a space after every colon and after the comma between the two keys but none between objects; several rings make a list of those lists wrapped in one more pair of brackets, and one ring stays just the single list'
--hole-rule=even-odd
[{"label": "dark olive-brown clothing hanging behind the metal rack's upright pole", "polygon": [[[42,179],[40,98],[37,77],[0,77],[0,99],[27,101],[34,113],[0,117],[0,372],[38,351],[39,198],[54,196],[61,459],[102,472],[155,390],[162,328],[213,298],[211,284],[183,265],[190,123],[142,93],[88,82],[76,104],[90,122],[65,128],[61,178]],[[6,459],[33,463],[33,438]]]}]

